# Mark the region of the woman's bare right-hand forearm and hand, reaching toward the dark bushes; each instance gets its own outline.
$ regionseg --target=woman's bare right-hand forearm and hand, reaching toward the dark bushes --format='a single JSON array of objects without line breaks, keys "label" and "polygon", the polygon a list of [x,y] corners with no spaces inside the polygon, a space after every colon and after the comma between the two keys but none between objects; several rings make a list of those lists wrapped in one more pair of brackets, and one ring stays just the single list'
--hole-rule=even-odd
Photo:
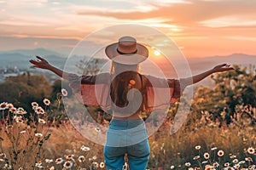
[{"label": "woman's bare right-hand forearm and hand, reaching toward the dark bushes", "polygon": [[212,73],[224,72],[224,71],[232,71],[232,70],[234,70],[234,68],[230,67],[230,65],[227,65],[227,64],[217,65],[217,66],[213,67],[211,70],[205,71],[205,72],[203,72],[203,73],[201,73],[199,75],[195,75],[193,77],[184,78],[183,79],[183,83],[184,83],[184,86],[189,86],[191,84],[195,84],[196,82],[200,82],[204,78],[210,76]]}]

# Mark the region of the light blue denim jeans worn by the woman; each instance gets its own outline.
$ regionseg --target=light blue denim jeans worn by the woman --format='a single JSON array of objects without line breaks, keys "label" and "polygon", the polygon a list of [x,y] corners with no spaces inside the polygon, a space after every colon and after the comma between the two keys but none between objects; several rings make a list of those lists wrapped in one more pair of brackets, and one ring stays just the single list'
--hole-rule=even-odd
[{"label": "light blue denim jeans worn by the woman", "polygon": [[121,121],[113,119],[108,127],[104,147],[105,165],[108,170],[122,170],[128,156],[130,170],[146,169],[150,149],[147,129],[143,120]]}]

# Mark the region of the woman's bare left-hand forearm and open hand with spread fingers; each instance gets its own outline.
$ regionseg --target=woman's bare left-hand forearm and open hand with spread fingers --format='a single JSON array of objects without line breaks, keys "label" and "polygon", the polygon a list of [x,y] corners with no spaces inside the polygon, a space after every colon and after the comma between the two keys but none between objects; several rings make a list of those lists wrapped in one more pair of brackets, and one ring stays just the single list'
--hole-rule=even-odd
[{"label": "woman's bare left-hand forearm and open hand with spread fingers", "polygon": [[50,65],[49,62],[42,57],[37,56],[38,59],[30,59],[29,62],[33,64],[33,67],[45,69],[54,72],[57,76],[64,79],[68,79],[69,73],[61,71],[53,65]]}]

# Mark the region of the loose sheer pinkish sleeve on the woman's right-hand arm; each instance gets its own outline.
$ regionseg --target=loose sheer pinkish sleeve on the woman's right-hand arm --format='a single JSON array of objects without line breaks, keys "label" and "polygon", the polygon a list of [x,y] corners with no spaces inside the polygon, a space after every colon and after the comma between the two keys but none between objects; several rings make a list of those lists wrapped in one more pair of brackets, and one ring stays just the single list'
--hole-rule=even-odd
[{"label": "loose sheer pinkish sleeve on the woman's right-hand arm", "polygon": [[169,108],[183,94],[182,79],[143,76],[143,109],[150,112]]}]

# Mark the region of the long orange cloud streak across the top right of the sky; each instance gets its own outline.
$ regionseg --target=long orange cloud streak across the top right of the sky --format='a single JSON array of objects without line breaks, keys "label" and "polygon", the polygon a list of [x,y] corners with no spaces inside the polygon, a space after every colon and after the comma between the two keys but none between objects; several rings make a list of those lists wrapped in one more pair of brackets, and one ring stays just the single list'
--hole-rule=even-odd
[{"label": "long orange cloud streak across the top right of the sky", "polygon": [[165,18],[170,23],[183,26],[196,24],[199,21],[211,20],[232,14],[256,14],[255,1],[189,1],[190,3],[172,3],[166,6],[155,5],[148,12],[137,11],[80,11],[79,15],[99,15],[119,20],[144,20],[149,18]]}]

